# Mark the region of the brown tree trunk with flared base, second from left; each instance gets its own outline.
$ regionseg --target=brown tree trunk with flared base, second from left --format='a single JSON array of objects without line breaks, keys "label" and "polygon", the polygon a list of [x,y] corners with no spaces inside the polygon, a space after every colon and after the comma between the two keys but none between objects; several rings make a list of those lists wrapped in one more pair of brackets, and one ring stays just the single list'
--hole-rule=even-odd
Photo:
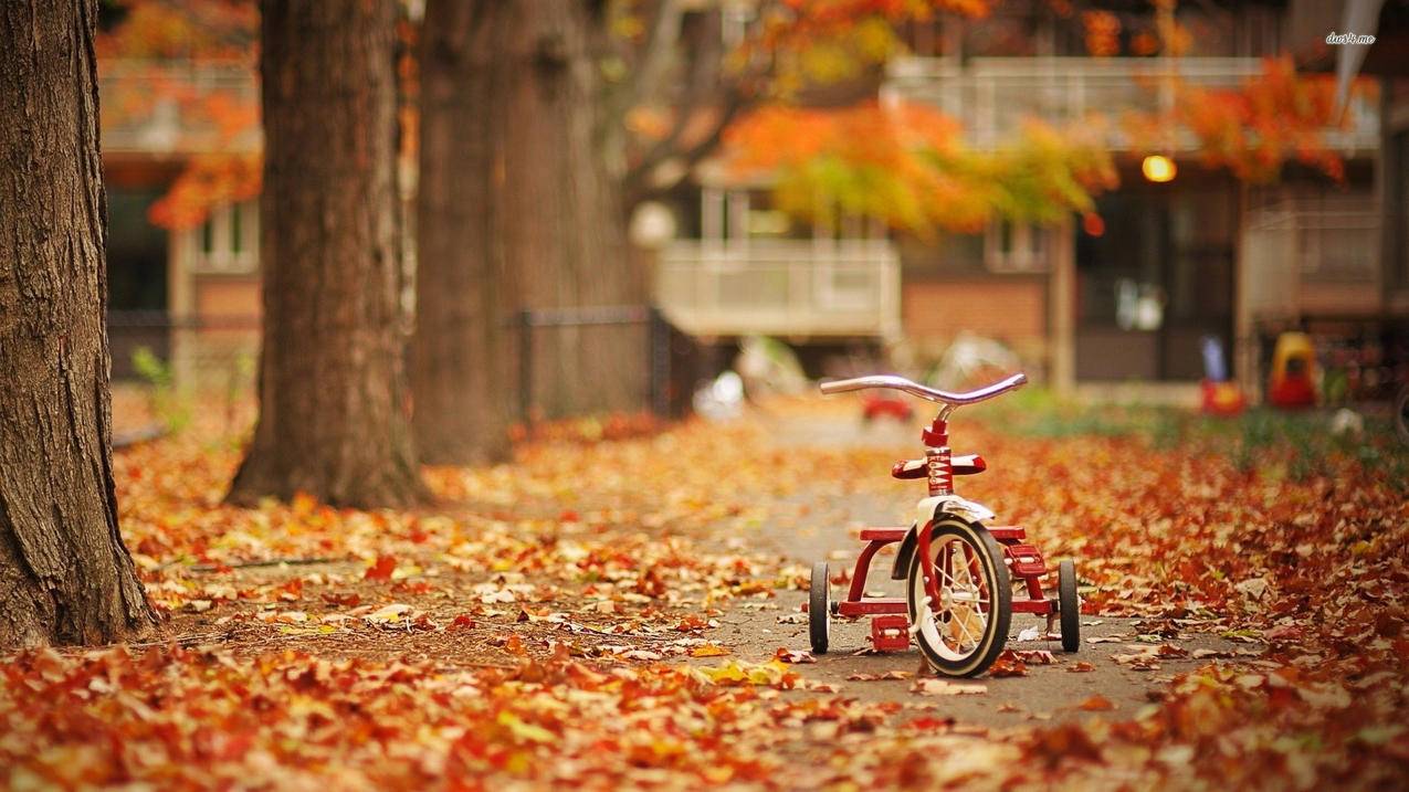
[{"label": "brown tree trunk with flared base, second from left", "polygon": [[259,423],[230,499],[420,492],[404,390],[396,3],[262,7]]}]

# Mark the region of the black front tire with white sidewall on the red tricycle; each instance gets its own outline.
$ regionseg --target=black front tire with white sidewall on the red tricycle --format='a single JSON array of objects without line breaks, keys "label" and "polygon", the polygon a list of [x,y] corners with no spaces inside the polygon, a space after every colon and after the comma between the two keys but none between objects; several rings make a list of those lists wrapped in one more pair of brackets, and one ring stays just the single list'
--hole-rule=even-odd
[{"label": "black front tire with white sidewall on the red tricycle", "polygon": [[[982,572],[988,579],[986,582],[993,598],[993,613],[988,620],[988,627],[979,640],[979,645],[965,658],[957,661],[944,658],[934,647],[929,645],[920,631],[914,633],[913,640],[920,647],[920,652],[924,654],[924,660],[930,664],[930,668],[937,674],[944,676],[978,676],[988,671],[989,665],[993,665],[993,661],[1002,654],[1003,647],[1007,645],[1007,629],[1013,619],[1013,585],[1007,575],[1007,564],[1003,562],[1003,548],[998,545],[998,541],[988,533],[988,528],[948,516],[931,523],[931,543],[948,536],[958,537],[979,551],[979,562],[983,567]],[[909,612],[912,626],[919,617],[917,603],[912,592],[914,590],[916,579],[920,576],[920,555],[919,548],[910,555],[910,569],[905,581],[906,610]],[[926,559],[926,562],[929,561]]]}]

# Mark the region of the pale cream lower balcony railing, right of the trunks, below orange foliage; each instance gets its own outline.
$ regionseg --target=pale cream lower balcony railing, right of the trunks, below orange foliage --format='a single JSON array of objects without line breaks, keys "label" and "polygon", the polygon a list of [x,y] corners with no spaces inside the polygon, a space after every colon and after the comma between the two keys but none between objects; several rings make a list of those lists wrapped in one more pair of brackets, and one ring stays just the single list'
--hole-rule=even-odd
[{"label": "pale cream lower balcony railing, right of the trunks, below orange foliage", "polygon": [[885,240],[679,241],[661,254],[657,303],[693,335],[890,338],[900,259]]}]

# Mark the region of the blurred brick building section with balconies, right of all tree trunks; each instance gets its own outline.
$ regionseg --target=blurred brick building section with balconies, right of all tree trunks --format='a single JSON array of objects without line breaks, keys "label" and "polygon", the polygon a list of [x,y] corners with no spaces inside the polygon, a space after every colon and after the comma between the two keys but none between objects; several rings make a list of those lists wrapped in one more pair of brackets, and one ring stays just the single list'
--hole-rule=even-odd
[{"label": "blurred brick building section with balconies, right of all tree trunks", "polygon": [[[913,55],[892,62],[875,92],[941,109],[985,149],[1027,117],[1062,125],[1091,111],[1153,113],[1172,101],[1177,80],[1237,87],[1288,51],[1285,1],[1181,3],[1192,39],[1178,58],[1089,56],[1079,10],[1058,6],[1071,4],[1010,1],[983,20],[912,25]],[[1155,13],[1147,1],[1079,6],[1119,18],[1127,42]],[[1112,125],[1122,185],[1098,200],[1103,228],[995,221],[937,244],[864,217],[797,228],[771,210],[766,185],[702,169],[700,197],[686,209],[697,220],[682,223],[690,238],[662,255],[659,302],[683,327],[721,338],[771,333],[844,347],[903,337],[938,349],[979,333],[1062,386],[1198,379],[1200,340],[1212,335],[1251,380],[1265,327],[1375,314],[1389,300],[1374,178],[1381,107],[1357,93],[1348,113],[1346,128],[1326,132],[1346,161],[1341,185],[1292,163],[1278,183],[1248,186],[1200,165],[1186,134],[1148,151]],[[1141,173],[1151,154],[1174,159],[1172,180]]]}]

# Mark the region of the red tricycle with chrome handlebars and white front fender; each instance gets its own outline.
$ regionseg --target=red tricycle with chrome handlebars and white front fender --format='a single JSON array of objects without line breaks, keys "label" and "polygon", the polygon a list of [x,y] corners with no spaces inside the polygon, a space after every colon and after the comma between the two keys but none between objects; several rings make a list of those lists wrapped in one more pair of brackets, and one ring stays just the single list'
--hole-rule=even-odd
[{"label": "red tricycle with chrome handlebars and white front fender", "polygon": [[[929,496],[916,505],[910,527],[862,528],[867,545],[857,558],[851,588],[841,602],[831,600],[826,561],[812,568],[812,596],[807,602],[813,652],[827,651],[831,619],[871,616],[871,640],[878,651],[906,650],[910,637],[920,645],[930,667],[945,676],[975,676],[988,669],[1007,643],[1013,612],[1047,617],[1050,633],[1061,620],[1061,644],[1067,651],[1081,645],[1081,602],[1072,561],[1057,567],[1057,596],[1043,593],[1047,562],[1040,550],[1026,544],[1019,526],[986,526],[993,513],[954,493],[954,476],[986,469],[978,454],[950,452],[948,419],[960,406],[975,404],[1007,393],[1027,382],[1016,373],[967,393],[948,393],[910,382],[902,376],[861,376],[826,382],[823,393],[867,388],[890,388],[941,404],[938,416],[920,434],[924,457],[896,462],[898,479],[926,479]],[[906,581],[902,598],[868,598],[867,574],[876,551],[899,543],[890,578]],[[1014,583],[1022,590],[1014,596]]]}]

